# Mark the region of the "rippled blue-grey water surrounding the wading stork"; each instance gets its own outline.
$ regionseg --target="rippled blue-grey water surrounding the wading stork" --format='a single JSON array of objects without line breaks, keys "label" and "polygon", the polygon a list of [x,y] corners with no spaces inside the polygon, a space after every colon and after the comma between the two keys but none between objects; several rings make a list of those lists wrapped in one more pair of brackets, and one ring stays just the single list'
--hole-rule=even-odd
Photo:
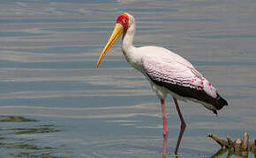
[{"label": "rippled blue-grey water surrounding the wading stork", "polygon": [[[95,68],[124,11],[137,20],[137,47],[189,59],[230,104],[215,117],[180,102],[188,125],[180,157],[214,155],[207,133],[256,138],[255,1],[0,3],[1,157],[162,157],[159,100],[124,60],[120,40]],[[168,157],[179,132],[170,100]]]}]

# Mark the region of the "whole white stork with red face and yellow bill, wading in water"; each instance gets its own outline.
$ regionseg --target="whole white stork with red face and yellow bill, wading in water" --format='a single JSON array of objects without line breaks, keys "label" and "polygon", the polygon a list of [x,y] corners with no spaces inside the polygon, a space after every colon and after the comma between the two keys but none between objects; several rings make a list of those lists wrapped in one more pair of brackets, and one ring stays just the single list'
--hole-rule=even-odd
[{"label": "whole white stork with red face and yellow bill, wading in water", "polygon": [[102,50],[97,61],[97,68],[109,48],[123,34],[122,51],[126,60],[131,66],[141,72],[160,98],[162,107],[162,135],[164,138],[162,153],[166,153],[166,140],[168,125],[164,101],[167,95],[171,95],[177,108],[181,121],[180,133],[177,139],[175,155],[182,140],[186,124],[179,109],[177,100],[196,102],[204,105],[208,110],[217,115],[224,105],[228,105],[212,85],[200,72],[178,54],[175,54],[163,47],[134,47],[133,38],[136,31],[135,18],[125,12],[117,18],[114,31],[112,32],[107,45]]}]

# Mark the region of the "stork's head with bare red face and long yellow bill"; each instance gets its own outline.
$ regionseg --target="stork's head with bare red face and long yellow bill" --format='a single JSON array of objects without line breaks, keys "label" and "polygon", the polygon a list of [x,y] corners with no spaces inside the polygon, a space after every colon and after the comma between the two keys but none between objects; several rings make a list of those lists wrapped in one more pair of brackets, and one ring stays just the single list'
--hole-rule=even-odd
[{"label": "stork's head with bare red face and long yellow bill", "polygon": [[126,12],[117,18],[117,23],[116,23],[115,28],[109,38],[109,41],[108,41],[107,45],[104,47],[104,49],[102,50],[102,54],[100,55],[100,57],[97,61],[97,68],[99,67],[104,55],[107,54],[109,48],[115,43],[115,41],[118,39],[118,37],[123,32],[126,33],[128,31],[128,29],[134,23],[135,23],[135,20],[132,17],[132,15],[129,13],[126,13]]}]

